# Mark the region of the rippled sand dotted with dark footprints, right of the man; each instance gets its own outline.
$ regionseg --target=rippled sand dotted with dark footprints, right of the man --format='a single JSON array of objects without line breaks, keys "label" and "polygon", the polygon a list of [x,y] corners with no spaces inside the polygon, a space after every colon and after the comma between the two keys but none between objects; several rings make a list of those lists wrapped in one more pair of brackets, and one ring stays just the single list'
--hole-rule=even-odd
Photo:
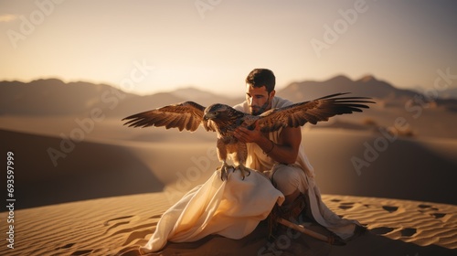
[{"label": "rippled sand dotted with dark footprints, right of the man", "polygon": [[418,201],[324,195],[336,214],[372,232],[420,246],[457,249],[457,206]]}]

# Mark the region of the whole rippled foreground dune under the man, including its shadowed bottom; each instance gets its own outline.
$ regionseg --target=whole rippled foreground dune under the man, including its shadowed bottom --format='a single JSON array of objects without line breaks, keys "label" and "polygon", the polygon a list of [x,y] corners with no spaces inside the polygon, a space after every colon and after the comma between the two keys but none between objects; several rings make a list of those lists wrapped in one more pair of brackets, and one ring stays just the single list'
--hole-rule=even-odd
[{"label": "whole rippled foreground dune under the man, including its shadowed bottom", "polygon": [[[345,246],[331,246],[305,235],[291,237],[300,255],[455,255],[457,207],[430,202],[324,195],[324,202],[371,231]],[[109,197],[16,211],[15,249],[1,255],[139,255],[171,202],[164,193]],[[5,213],[1,214],[2,219]],[[324,232],[324,230],[314,227]],[[242,240],[218,236],[194,243],[168,244],[151,255],[260,255],[268,244],[260,225]],[[5,226],[1,232],[5,234]],[[295,243],[293,243],[295,244]],[[278,253],[278,252],[277,252]],[[306,254],[304,254],[306,253]],[[289,255],[289,254],[282,254]]]}]

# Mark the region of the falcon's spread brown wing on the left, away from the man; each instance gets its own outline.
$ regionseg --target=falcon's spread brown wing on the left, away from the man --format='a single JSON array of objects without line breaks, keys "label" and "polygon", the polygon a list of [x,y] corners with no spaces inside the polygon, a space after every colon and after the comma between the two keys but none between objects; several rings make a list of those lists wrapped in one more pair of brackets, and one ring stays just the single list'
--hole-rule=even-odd
[{"label": "falcon's spread brown wing on the left, away from the man", "polygon": [[186,129],[195,132],[200,124],[207,131],[216,131],[211,120],[204,120],[205,107],[194,101],[186,101],[179,104],[168,105],[152,111],[140,112],[128,116],[122,120],[129,120],[129,127],[165,126],[166,129],[178,128],[179,131]]}]

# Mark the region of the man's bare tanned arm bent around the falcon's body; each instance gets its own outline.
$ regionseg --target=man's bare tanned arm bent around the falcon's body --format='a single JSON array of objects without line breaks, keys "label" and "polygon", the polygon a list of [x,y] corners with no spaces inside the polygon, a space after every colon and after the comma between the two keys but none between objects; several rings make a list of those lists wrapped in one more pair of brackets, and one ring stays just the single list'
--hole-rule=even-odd
[{"label": "man's bare tanned arm bent around the falcon's body", "polygon": [[235,137],[244,143],[258,144],[263,152],[276,162],[293,164],[297,160],[298,150],[302,142],[302,131],[300,127],[283,128],[278,144],[274,144],[267,135],[261,133],[258,127],[252,131],[239,127],[235,131]]}]

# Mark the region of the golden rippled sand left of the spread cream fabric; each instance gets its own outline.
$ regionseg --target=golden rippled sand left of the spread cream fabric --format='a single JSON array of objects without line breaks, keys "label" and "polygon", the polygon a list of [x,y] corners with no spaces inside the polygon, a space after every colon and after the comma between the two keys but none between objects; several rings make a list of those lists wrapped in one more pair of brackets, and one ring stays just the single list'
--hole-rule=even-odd
[{"label": "golden rippled sand left of the spread cream fabric", "polygon": [[0,255],[122,255],[148,240],[170,206],[146,194],[18,210],[15,249]]}]

